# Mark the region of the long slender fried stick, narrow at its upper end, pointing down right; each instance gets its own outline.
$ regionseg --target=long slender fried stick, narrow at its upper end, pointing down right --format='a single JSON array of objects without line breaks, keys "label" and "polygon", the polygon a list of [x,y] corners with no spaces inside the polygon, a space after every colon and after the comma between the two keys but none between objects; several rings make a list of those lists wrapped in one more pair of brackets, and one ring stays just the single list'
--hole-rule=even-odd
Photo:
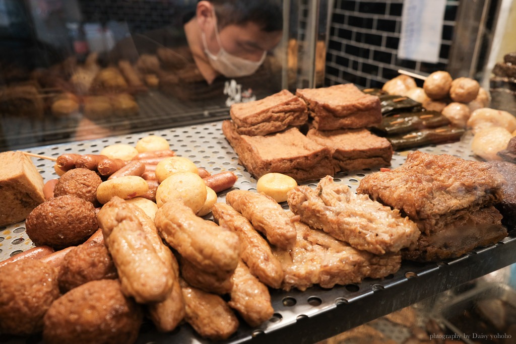
[{"label": "long slender fried stick, narrow at its upper end, pointing down right", "polygon": [[283,282],[281,264],[272,254],[267,241],[254,230],[251,223],[225,203],[215,203],[212,214],[220,226],[238,234],[241,258],[249,267],[249,271],[269,287],[280,288]]}]

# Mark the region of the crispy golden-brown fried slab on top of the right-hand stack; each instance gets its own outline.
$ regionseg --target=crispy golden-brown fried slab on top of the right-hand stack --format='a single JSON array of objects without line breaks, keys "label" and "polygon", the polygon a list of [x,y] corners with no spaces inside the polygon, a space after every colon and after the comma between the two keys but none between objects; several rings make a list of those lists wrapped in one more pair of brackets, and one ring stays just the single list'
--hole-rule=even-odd
[{"label": "crispy golden-brown fried slab on top of the right-hand stack", "polygon": [[416,151],[400,167],[362,178],[357,192],[423,220],[497,203],[505,184],[487,162]]}]

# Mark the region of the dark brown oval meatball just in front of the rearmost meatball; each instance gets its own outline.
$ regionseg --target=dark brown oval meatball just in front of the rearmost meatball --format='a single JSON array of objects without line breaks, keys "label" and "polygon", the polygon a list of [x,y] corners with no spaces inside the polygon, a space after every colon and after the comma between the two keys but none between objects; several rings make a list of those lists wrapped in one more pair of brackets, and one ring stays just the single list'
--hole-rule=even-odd
[{"label": "dark brown oval meatball just in front of the rearmost meatball", "polygon": [[65,195],[34,208],[25,221],[25,228],[36,245],[49,245],[60,250],[83,243],[99,224],[91,202]]}]

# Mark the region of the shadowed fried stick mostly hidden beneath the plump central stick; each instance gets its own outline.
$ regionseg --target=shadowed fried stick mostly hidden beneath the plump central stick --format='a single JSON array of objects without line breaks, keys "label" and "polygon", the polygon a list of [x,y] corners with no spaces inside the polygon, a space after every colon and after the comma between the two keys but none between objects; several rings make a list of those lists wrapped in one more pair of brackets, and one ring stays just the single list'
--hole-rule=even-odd
[{"label": "shadowed fried stick mostly hidden beneath the plump central stick", "polygon": [[232,276],[220,279],[216,274],[204,272],[186,259],[181,261],[181,276],[192,287],[219,295],[227,294],[233,288]]}]

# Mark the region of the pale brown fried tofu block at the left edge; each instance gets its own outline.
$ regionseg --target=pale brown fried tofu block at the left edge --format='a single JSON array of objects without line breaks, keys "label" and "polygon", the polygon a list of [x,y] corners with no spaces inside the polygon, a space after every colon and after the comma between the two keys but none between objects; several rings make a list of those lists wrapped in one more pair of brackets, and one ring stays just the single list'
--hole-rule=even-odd
[{"label": "pale brown fried tofu block at the left edge", "polygon": [[0,153],[0,226],[23,221],[45,201],[43,178],[22,152]]}]

